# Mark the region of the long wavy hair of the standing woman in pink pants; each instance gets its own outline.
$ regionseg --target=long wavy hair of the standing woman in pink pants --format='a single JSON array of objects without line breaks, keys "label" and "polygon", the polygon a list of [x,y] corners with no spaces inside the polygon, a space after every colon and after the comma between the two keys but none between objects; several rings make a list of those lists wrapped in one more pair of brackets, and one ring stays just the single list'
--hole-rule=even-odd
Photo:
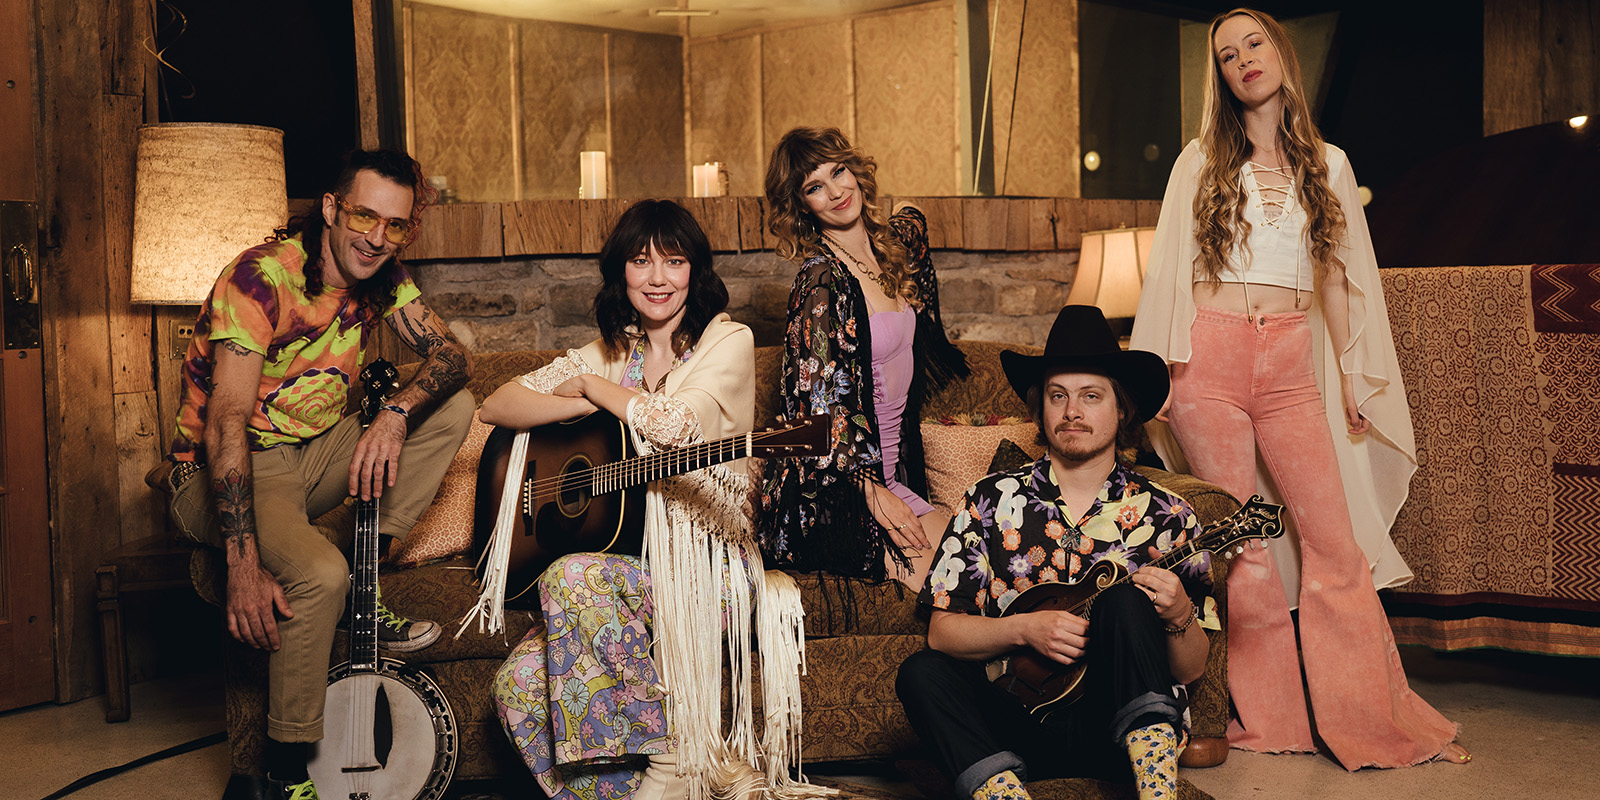
[{"label": "long wavy hair of the standing woman in pink pants", "polygon": [[[1306,211],[1306,243],[1315,280],[1320,283],[1330,270],[1344,269],[1344,261],[1339,259],[1344,210],[1328,186],[1328,160],[1323,157],[1322,133],[1310,118],[1299,58],[1294,56],[1294,46],[1283,26],[1272,16],[1250,8],[1218,14],[1206,35],[1208,46],[1216,42],[1216,29],[1235,16],[1248,16],[1259,22],[1278,53],[1278,64],[1283,69],[1283,88],[1278,91],[1283,99],[1283,117],[1277,130],[1278,152],[1283,154],[1299,186],[1298,200]],[[1213,51],[1200,126],[1200,152],[1205,154],[1205,165],[1200,168],[1200,190],[1195,192],[1194,205],[1195,242],[1200,245],[1195,270],[1208,283],[1218,283],[1227,269],[1232,250],[1248,248],[1250,242],[1240,170],[1250,158],[1251,144],[1245,138],[1243,104],[1227,88],[1221,70],[1222,64]]]}]

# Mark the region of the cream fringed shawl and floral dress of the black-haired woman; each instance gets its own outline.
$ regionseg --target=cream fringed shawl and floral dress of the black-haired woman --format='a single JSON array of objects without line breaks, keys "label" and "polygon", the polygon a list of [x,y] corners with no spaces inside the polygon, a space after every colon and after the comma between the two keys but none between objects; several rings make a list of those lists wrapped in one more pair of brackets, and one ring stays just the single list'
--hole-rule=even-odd
[{"label": "cream fringed shawl and floral dress of the black-haired woman", "polygon": [[[667,374],[664,390],[645,392],[629,406],[627,426],[635,442],[650,451],[749,430],[754,358],[749,328],[720,315]],[[549,392],[574,374],[597,373],[640,389],[642,363],[637,344],[626,362],[606,363],[594,342],[568,350],[520,382]],[[629,797],[643,774],[645,755],[680,754],[680,770],[701,778],[691,781],[691,797],[704,795],[704,776],[718,758],[726,760],[731,754],[747,763],[760,762],[747,730],[742,739],[739,731],[733,738],[722,736],[717,706],[720,654],[734,650],[723,643],[722,630],[726,627],[734,642],[742,637],[747,648],[755,614],[752,603],[765,589],[744,512],[747,491],[742,467],[710,467],[659,480],[651,485],[646,501],[643,557],[574,554],[539,576],[544,626],[517,645],[496,675],[493,691],[512,744],[550,797]],[[688,544],[675,547],[672,539]],[[694,570],[701,574],[691,574]],[[709,602],[698,602],[706,597]],[[781,635],[776,642],[763,637],[763,666],[768,646],[774,666],[784,664],[784,651],[797,646],[797,600],[792,613],[789,642]],[[696,627],[712,634],[688,634]],[[661,645],[653,659],[656,637]],[[739,659],[734,661],[738,720],[741,702],[747,706],[749,698],[747,650],[742,675]],[[696,691],[707,683],[710,699],[706,691]],[[798,677],[790,688],[797,693]],[[771,707],[781,709],[779,704]],[[797,699],[794,709],[797,722]],[[749,709],[744,714],[749,715]],[[778,755],[774,760],[782,762],[784,774],[774,782],[781,784],[787,779],[789,762],[784,754]]]}]

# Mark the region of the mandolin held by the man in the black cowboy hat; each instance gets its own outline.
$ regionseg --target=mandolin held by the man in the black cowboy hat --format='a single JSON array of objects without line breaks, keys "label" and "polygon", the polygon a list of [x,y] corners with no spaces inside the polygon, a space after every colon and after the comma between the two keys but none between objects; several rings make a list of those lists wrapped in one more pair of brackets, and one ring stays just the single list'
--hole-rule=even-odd
[{"label": "mandolin held by the man in the black cowboy hat", "polygon": [[[1275,506],[1261,499],[1261,494],[1250,498],[1243,507],[1206,525],[1194,539],[1162,554],[1160,558],[1146,566],[1171,570],[1184,558],[1202,550],[1222,554],[1232,558],[1243,552],[1242,544],[1250,539],[1275,539],[1283,536],[1283,506]],[[1070,584],[1045,582],[1016,595],[1011,605],[1000,614],[1026,614],[1030,611],[1069,611],[1088,619],[1094,606],[1094,598],[1101,592],[1126,582],[1131,576],[1114,562],[1099,562],[1090,566],[1088,573]],[[989,675],[1000,688],[1014,694],[1022,706],[1038,718],[1045,718],[1058,709],[1070,706],[1083,694],[1083,659],[1062,664],[1034,648],[1018,648],[989,662]]]}]

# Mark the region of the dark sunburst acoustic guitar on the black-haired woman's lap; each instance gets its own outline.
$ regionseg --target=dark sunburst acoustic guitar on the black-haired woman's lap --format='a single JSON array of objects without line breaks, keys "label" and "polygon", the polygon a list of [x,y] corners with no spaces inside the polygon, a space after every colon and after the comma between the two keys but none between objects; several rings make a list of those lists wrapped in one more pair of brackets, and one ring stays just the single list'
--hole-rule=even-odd
[{"label": "dark sunburst acoustic guitar on the black-haired woman's lap", "polygon": [[[605,411],[530,429],[506,562],[507,603],[528,594],[539,573],[562,555],[640,552],[645,485],[651,480],[749,456],[821,456],[827,453],[827,416],[805,416],[768,430],[640,456],[627,426]],[[515,435],[517,429],[496,426],[478,461],[474,547],[480,578]]]}]

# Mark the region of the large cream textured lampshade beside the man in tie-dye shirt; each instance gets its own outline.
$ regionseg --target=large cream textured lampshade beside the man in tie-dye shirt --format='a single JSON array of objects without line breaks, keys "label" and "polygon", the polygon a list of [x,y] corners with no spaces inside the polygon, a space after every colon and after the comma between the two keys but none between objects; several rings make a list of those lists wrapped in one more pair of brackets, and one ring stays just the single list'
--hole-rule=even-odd
[{"label": "large cream textured lampshade beside the man in tie-dye shirt", "polygon": [[222,267],[286,218],[283,131],[187,122],[141,125],[133,302],[198,306]]}]

